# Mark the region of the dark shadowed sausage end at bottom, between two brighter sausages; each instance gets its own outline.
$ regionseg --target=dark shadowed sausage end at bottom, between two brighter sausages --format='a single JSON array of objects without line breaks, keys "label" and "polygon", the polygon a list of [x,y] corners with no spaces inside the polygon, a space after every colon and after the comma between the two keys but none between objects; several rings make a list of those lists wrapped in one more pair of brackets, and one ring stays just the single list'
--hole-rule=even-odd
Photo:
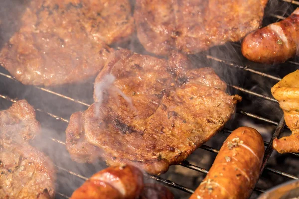
[{"label": "dark shadowed sausage end at bottom, between two brighter sausages", "polygon": [[144,190],[139,199],[174,199],[174,196],[162,185],[145,184]]}]

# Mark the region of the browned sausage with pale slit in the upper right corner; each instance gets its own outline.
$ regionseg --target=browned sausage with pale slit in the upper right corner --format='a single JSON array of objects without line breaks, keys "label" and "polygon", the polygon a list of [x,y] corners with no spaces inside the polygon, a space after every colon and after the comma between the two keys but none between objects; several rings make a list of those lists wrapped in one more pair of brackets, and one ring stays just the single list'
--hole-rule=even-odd
[{"label": "browned sausage with pale slit in the upper right corner", "polygon": [[242,42],[243,55],[254,62],[282,63],[299,48],[299,8],[288,18],[248,34]]}]

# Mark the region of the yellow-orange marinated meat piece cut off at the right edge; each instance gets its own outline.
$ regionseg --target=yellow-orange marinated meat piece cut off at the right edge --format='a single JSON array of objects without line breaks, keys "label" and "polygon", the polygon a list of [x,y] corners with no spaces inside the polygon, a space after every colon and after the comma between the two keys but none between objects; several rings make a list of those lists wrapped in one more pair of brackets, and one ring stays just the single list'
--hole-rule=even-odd
[{"label": "yellow-orange marinated meat piece cut off at the right edge", "polygon": [[275,138],[273,148],[279,153],[299,153],[299,70],[290,73],[271,89],[285,114],[287,126],[292,135]]}]

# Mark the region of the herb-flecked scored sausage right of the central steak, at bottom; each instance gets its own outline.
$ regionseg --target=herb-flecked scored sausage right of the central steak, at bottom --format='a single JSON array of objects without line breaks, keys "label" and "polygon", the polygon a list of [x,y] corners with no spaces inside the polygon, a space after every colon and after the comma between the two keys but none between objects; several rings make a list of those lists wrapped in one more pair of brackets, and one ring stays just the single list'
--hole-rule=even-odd
[{"label": "herb-flecked scored sausage right of the central steak, at bottom", "polygon": [[264,152],[258,131],[249,127],[234,130],[190,199],[248,199],[259,179]]}]

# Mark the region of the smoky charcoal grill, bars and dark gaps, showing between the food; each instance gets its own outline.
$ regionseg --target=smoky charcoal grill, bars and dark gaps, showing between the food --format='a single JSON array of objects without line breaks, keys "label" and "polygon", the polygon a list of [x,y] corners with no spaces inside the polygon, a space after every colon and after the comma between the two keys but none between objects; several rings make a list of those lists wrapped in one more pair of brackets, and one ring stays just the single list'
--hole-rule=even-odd
[{"label": "smoky charcoal grill, bars and dark gaps, showing between the food", "polygon": [[[273,3],[274,2],[270,0],[269,4]],[[299,5],[299,1],[278,0],[275,1],[274,4],[276,4],[275,9],[272,5],[271,8],[266,9],[264,24],[284,19]],[[230,53],[238,54],[236,59],[232,59],[231,57],[236,56],[232,56],[230,53],[220,53],[226,52],[227,48],[232,49]],[[269,141],[264,141],[266,152],[261,169],[261,178],[267,181],[269,176],[277,175],[277,178],[283,179],[282,181],[298,179],[298,177],[295,176],[296,174],[292,175],[284,172],[288,170],[287,168],[284,168],[284,171],[280,171],[279,169],[267,165],[273,153],[273,139],[279,137],[283,131],[288,131],[278,101],[272,98],[270,88],[280,81],[281,77],[299,68],[297,58],[276,66],[264,66],[251,63],[241,56],[240,43],[212,48],[208,52],[191,58],[200,60],[202,65],[215,68],[217,74],[228,83],[230,93],[239,94],[244,99],[244,102],[238,105],[236,116],[231,124],[224,127],[219,134],[221,136],[227,136],[232,132],[231,129],[234,129],[230,127],[238,126],[238,122],[244,118],[246,120],[252,120],[259,125],[272,125],[274,130],[269,131],[270,139]],[[235,81],[234,79],[236,79],[236,77],[229,77],[229,74],[237,74],[241,77],[237,79],[242,79],[242,81]],[[260,85],[257,85],[256,88],[260,88],[260,90],[253,87],[253,84],[257,82],[259,82]],[[262,85],[261,82],[267,83],[266,87]],[[18,99],[26,99],[35,107],[37,119],[41,122],[45,130],[39,139],[41,141],[34,143],[34,145],[48,154],[57,168],[57,199],[69,198],[72,192],[87,180],[88,177],[100,169],[105,168],[105,163],[101,161],[92,165],[72,162],[64,146],[64,130],[69,122],[68,118],[71,113],[78,110],[85,110],[92,103],[93,81],[59,88],[25,86],[17,82],[6,70],[0,67],[0,85],[2,85],[0,88],[1,109],[7,108],[12,102]],[[242,87],[240,85],[242,85]],[[256,103],[261,103],[262,106],[266,104],[265,106],[267,107],[262,108],[263,111],[260,111],[259,108],[261,105],[254,105]],[[250,106],[247,104],[250,104]],[[251,108],[251,106],[254,108]],[[234,125],[234,123],[237,124]],[[211,152],[211,156],[214,157],[215,155],[213,154],[217,154],[220,147],[221,144],[216,147],[217,149],[208,145],[202,145],[200,148]],[[296,161],[296,158],[299,159],[299,154],[291,153],[281,157],[281,161],[289,157]],[[208,168],[192,165],[187,160],[180,163],[179,166],[195,170],[198,172],[198,176],[202,177],[208,173]],[[161,176],[149,174],[147,174],[146,177],[176,190],[181,190],[182,192],[176,192],[178,195],[183,192],[189,194],[194,192],[193,189],[185,187],[184,182],[173,182]],[[274,185],[271,184],[271,186],[261,188],[258,184],[254,189],[253,196],[256,197],[258,194],[265,192],[265,189],[270,189],[272,186]]]}]

